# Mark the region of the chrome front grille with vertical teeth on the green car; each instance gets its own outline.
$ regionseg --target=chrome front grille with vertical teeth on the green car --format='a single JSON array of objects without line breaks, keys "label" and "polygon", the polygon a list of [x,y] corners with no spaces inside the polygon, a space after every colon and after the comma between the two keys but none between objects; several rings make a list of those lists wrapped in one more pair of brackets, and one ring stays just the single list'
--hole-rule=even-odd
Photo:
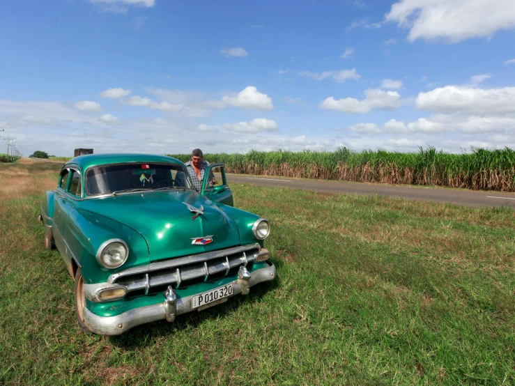
[{"label": "chrome front grille with vertical teeth on the green car", "polygon": [[265,251],[266,249],[263,249],[261,252],[261,246],[256,243],[171,258],[128,268],[109,276],[107,281],[124,286],[127,293],[144,291],[148,294],[152,288],[170,285],[180,288],[192,281],[207,281],[210,277],[229,275],[231,270],[238,270],[241,265],[246,267],[247,264],[254,262],[260,254],[268,254],[268,251]]}]

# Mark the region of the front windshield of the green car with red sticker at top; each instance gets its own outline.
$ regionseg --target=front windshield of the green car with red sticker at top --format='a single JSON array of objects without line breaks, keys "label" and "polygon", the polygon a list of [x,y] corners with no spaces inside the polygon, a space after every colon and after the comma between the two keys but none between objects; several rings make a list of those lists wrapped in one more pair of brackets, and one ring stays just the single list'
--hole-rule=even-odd
[{"label": "front windshield of the green car with red sticker at top", "polygon": [[87,169],[85,180],[88,196],[155,189],[191,189],[185,167],[177,164],[102,165]]}]

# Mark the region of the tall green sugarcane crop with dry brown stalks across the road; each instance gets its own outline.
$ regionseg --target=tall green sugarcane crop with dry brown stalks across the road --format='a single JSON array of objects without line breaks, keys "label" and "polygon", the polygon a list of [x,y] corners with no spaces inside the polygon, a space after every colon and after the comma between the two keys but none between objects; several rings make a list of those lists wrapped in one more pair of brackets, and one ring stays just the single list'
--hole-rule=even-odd
[{"label": "tall green sugarcane crop with dry brown stalks across the road", "polygon": [[[183,162],[190,159],[190,155],[171,156]],[[462,154],[431,147],[413,153],[340,148],[334,152],[251,151],[204,157],[209,162],[223,162],[232,173],[515,192],[515,150],[509,148],[472,148]]]}]

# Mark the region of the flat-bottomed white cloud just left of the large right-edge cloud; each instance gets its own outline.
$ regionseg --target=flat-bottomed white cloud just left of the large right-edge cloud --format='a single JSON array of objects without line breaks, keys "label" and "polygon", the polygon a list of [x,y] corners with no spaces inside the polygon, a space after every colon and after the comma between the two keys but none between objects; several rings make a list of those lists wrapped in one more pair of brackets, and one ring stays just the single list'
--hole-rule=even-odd
[{"label": "flat-bottomed white cloud just left of the large right-edge cloud", "polygon": [[335,100],[329,97],[318,105],[321,109],[337,110],[344,113],[368,113],[372,109],[392,110],[397,109],[401,95],[397,91],[383,91],[377,88],[369,88],[364,91],[364,100],[344,98]]}]

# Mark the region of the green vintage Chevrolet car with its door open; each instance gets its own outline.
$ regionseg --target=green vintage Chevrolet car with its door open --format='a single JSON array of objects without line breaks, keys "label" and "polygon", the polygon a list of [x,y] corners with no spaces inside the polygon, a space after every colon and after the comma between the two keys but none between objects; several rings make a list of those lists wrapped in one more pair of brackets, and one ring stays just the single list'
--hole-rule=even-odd
[{"label": "green vintage Chevrolet car with its door open", "polygon": [[202,310],[275,279],[263,247],[266,219],[233,208],[223,164],[202,190],[186,167],[160,155],[81,155],[45,192],[45,247],[75,279],[86,332],[130,328]]}]

